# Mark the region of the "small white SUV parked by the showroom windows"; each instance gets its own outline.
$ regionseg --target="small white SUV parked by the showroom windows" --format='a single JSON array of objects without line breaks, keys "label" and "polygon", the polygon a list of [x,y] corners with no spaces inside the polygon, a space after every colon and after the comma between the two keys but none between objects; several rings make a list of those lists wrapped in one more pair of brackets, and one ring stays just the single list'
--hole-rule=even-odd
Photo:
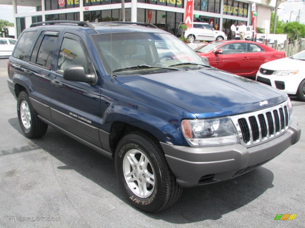
[{"label": "small white SUV parked by the showroom windows", "polygon": [[204,22],[193,22],[193,28],[187,29],[184,33],[184,37],[187,38],[190,43],[193,43],[195,40],[214,41],[227,39],[224,32],[214,30],[209,23]]}]

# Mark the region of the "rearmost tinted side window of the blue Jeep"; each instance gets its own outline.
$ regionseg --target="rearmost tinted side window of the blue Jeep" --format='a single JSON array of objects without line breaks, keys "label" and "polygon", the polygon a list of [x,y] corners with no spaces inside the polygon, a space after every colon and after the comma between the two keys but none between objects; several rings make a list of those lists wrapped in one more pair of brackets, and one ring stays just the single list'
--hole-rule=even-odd
[{"label": "rearmost tinted side window of the blue Jeep", "polygon": [[37,31],[22,33],[20,40],[18,41],[18,44],[15,48],[13,57],[21,60],[26,60],[37,34]]}]

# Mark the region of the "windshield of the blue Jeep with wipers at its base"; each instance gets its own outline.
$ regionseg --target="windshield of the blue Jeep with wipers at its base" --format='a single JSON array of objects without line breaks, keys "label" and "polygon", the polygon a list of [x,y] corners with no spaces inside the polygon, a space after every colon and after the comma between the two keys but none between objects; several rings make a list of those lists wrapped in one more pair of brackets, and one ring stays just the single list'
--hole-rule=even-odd
[{"label": "windshield of the blue Jeep with wipers at its base", "polygon": [[[185,43],[163,33],[112,33],[93,35],[106,73],[126,71],[162,71],[162,67],[181,63],[206,63]],[[112,41],[112,42],[111,42]],[[146,65],[148,67],[137,67]],[[193,66],[193,65],[190,65]],[[177,68],[190,67],[179,65]],[[196,67],[196,66],[193,66]],[[197,67],[198,68],[198,67]],[[167,69],[168,71],[168,69]]]}]

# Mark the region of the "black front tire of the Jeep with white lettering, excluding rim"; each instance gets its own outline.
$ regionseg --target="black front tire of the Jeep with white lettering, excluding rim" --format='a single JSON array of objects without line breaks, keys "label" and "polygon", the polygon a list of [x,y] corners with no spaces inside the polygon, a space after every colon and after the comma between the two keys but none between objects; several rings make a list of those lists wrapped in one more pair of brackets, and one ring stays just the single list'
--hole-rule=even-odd
[{"label": "black front tire of the Jeep with white lettering, excluding rim", "polygon": [[[125,179],[124,157],[127,152],[133,149],[140,151],[148,158],[154,174],[155,185],[151,195],[147,198],[136,195]],[[176,178],[167,164],[160,143],[149,133],[144,131],[131,132],[120,140],[115,153],[115,168],[119,184],[128,201],[142,211],[161,211],[173,205],[181,196],[182,188],[177,184]],[[130,171],[133,173],[135,170],[132,168]],[[135,184],[139,183],[136,181],[134,181]]]}]

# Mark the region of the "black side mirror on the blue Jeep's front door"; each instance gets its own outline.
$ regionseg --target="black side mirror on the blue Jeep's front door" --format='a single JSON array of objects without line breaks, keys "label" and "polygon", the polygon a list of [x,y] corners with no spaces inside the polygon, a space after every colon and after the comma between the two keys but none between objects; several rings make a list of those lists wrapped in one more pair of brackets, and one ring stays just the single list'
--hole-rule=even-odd
[{"label": "black side mirror on the blue Jeep's front door", "polygon": [[87,82],[91,85],[97,83],[96,74],[87,74],[83,66],[66,67],[63,71],[63,78],[67,81]]}]

